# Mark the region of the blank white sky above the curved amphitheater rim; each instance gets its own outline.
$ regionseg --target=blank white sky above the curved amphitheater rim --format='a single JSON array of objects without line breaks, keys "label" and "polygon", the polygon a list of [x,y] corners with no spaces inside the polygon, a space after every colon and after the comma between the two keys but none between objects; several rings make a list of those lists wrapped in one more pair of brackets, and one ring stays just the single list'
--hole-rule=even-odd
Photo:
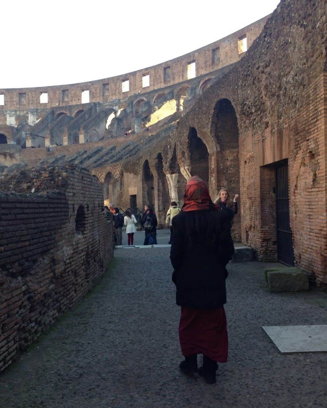
[{"label": "blank white sky above the curved amphitheater rim", "polygon": [[72,84],[150,67],[271,13],[279,0],[2,0],[0,88]]}]

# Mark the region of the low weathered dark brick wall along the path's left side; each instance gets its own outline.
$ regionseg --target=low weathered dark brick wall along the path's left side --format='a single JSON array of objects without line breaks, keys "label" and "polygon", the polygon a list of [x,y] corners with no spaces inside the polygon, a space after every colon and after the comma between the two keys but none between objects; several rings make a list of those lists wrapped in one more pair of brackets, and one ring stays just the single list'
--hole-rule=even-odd
[{"label": "low weathered dark brick wall along the path's left side", "polygon": [[83,298],[113,253],[112,223],[87,170],[31,169],[0,189],[9,191],[0,193],[1,371]]}]

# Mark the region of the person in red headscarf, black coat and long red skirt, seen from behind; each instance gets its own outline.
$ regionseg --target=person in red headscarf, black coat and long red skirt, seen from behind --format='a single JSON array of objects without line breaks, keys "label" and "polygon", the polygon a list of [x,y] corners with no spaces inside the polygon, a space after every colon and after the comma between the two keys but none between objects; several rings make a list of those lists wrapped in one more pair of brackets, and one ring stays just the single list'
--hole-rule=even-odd
[{"label": "person in red headscarf, black coat and long red skirt, seen from behind", "polygon": [[[228,355],[226,328],[226,265],[234,253],[231,216],[211,201],[198,176],[186,184],[181,213],[172,220],[170,260],[174,268],[176,303],[181,306],[179,342],[185,357],[179,367],[187,374],[199,372],[216,382],[217,361]],[[203,366],[197,369],[197,354]]]}]

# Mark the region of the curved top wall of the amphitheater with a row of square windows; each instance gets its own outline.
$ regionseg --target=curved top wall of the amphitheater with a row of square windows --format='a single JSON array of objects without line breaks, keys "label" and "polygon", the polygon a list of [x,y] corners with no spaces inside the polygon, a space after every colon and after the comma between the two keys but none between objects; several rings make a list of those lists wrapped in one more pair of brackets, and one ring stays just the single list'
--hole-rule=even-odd
[{"label": "curved top wall of the amphitheater with a row of square windows", "polygon": [[[266,16],[221,40],[181,57],[116,77],[69,85],[0,89],[0,95],[4,95],[4,105],[0,106],[0,110],[47,109],[81,104],[81,93],[87,90],[90,92],[90,102],[105,103],[128,98],[136,93],[161,89],[187,80],[187,65],[193,61],[196,76],[205,75],[240,60],[244,53],[239,53],[238,41],[246,37],[249,48],[268,18],[269,16]],[[149,86],[142,87],[142,77],[145,75],[149,75],[150,83]],[[125,80],[129,80],[129,91],[122,92],[122,82]],[[41,93],[47,93],[47,103],[40,103]]]}]

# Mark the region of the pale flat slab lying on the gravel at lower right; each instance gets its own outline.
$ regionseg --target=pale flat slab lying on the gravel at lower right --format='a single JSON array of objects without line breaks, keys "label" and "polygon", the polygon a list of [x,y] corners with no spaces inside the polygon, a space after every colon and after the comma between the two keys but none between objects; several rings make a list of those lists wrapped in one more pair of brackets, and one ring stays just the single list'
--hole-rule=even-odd
[{"label": "pale flat slab lying on the gravel at lower right", "polygon": [[327,324],[262,326],[280,353],[327,351]]}]

